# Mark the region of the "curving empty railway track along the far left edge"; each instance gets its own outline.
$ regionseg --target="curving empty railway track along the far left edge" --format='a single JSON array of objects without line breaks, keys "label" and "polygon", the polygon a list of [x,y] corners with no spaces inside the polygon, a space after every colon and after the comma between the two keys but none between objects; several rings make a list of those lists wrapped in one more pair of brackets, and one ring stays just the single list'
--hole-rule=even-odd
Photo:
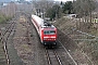
[{"label": "curving empty railway track along the far left edge", "polygon": [[9,58],[9,54],[8,54],[7,43],[8,43],[8,39],[10,37],[10,35],[12,34],[12,31],[14,31],[14,28],[15,28],[15,23],[11,22],[9,27],[7,29],[4,29],[4,31],[2,31],[2,34],[1,34],[1,42],[3,44],[3,50],[5,53],[7,65],[10,65],[10,58]]}]

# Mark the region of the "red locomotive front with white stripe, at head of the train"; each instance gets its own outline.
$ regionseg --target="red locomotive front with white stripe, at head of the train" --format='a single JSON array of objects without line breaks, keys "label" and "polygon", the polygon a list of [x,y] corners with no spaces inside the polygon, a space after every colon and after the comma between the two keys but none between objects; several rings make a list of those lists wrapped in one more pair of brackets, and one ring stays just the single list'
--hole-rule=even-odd
[{"label": "red locomotive front with white stripe, at head of the train", "polygon": [[[49,25],[50,26],[50,25]],[[41,30],[44,44],[57,44],[57,28],[54,26],[45,26]]]}]

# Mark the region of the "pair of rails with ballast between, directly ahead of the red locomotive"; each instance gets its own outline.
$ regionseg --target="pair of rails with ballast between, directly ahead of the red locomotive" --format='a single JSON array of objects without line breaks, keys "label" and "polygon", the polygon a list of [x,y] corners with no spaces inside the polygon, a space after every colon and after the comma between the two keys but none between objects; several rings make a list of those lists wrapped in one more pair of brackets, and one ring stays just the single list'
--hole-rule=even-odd
[{"label": "pair of rails with ballast between, directly ahead of the red locomotive", "polygon": [[62,62],[61,62],[59,55],[57,54],[56,50],[47,50],[45,48],[45,52],[47,55],[48,65],[62,65]]}]

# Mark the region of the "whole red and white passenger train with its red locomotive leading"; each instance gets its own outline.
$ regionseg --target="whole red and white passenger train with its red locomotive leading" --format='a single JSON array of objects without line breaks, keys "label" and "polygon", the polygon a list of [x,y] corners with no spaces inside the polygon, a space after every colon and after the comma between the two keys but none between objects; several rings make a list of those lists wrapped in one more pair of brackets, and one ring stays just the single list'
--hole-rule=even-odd
[{"label": "whole red and white passenger train with its red locomotive leading", "polygon": [[32,14],[32,23],[44,46],[57,46],[57,28],[53,25],[34,14]]}]

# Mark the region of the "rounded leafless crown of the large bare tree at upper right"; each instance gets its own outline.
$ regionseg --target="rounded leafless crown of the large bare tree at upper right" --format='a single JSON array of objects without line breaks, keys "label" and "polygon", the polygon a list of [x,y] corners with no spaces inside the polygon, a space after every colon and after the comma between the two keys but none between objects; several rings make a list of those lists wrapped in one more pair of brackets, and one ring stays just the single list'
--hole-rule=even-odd
[{"label": "rounded leafless crown of the large bare tree at upper right", "polygon": [[96,0],[76,0],[73,4],[74,11],[79,14],[79,16],[90,15],[95,10],[95,1]]}]

